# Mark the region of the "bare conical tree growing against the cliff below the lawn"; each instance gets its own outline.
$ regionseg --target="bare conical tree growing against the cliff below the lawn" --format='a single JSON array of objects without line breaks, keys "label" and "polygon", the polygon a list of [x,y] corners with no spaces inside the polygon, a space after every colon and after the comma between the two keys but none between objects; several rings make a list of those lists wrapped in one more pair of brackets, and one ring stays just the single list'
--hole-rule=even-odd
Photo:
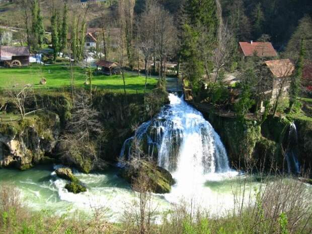
[{"label": "bare conical tree growing against the cliff below the lawn", "polygon": [[85,90],[75,93],[72,118],[59,145],[65,163],[81,166],[83,171],[89,172],[100,162],[96,139],[104,131],[99,115]]}]

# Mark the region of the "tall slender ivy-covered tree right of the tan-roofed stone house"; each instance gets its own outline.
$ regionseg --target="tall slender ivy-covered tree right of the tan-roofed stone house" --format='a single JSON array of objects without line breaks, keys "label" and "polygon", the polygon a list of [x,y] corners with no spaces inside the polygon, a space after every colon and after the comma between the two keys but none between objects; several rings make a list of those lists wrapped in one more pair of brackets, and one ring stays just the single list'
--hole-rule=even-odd
[{"label": "tall slender ivy-covered tree right of the tan-roofed stone house", "polygon": [[296,102],[298,94],[299,94],[299,88],[300,88],[300,82],[302,79],[302,72],[303,72],[303,65],[304,65],[304,56],[305,56],[305,46],[304,46],[304,39],[301,39],[300,43],[300,51],[299,51],[299,57],[295,65],[295,71],[291,77],[291,83],[289,88],[289,108],[291,109],[293,104]]}]

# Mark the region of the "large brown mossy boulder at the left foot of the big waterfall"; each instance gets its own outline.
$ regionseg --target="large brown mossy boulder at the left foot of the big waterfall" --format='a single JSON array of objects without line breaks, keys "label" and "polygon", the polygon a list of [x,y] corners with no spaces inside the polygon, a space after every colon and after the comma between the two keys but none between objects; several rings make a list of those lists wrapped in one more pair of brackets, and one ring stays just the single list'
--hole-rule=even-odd
[{"label": "large brown mossy boulder at the left foot of the big waterfall", "polygon": [[139,161],[136,167],[127,166],[121,176],[128,181],[134,190],[138,190],[136,183],[138,178],[143,175],[149,184],[149,189],[153,193],[170,193],[171,186],[175,184],[170,172],[147,161]]}]

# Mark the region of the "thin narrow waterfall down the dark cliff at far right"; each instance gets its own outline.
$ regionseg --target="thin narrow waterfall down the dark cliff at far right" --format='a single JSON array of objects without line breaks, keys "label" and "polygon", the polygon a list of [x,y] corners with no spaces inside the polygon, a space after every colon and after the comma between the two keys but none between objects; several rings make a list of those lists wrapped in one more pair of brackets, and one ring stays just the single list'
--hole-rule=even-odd
[{"label": "thin narrow waterfall down the dark cliff at far right", "polygon": [[298,144],[297,128],[296,125],[293,122],[291,122],[289,124],[288,145],[285,154],[288,174],[290,173],[298,174],[300,172],[300,166],[297,158],[297,144]]}]

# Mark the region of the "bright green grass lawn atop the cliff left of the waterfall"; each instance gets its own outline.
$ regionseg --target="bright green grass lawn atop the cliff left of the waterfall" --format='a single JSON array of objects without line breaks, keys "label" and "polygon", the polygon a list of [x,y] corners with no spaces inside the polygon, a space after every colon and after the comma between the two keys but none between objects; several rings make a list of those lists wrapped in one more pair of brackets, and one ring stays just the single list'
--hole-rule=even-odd
[{"label": "bright green grass lawn atop the cliff left of the waterfall", "polygon": [[[85,70],[81,67],[74,67],[75,86],[85,86]],[[46,85],[40,85],[42,78],[47,80]],[[125,73],[125,83],[127,93],[143,93],[145,77],[131,73]],[[155,88],[157,79],[147,80],[147,89]],[[68,65],[30,65],[18,68],[0,68],[0,88],[8,88],[14,85],[31,84],[35,89],[49,88],[57,89],[70,86],[70,68]],[[105,89],[111,92],[123,92],[123,80],[121,75],[95,75],[92,80],[93,87]]]}]

